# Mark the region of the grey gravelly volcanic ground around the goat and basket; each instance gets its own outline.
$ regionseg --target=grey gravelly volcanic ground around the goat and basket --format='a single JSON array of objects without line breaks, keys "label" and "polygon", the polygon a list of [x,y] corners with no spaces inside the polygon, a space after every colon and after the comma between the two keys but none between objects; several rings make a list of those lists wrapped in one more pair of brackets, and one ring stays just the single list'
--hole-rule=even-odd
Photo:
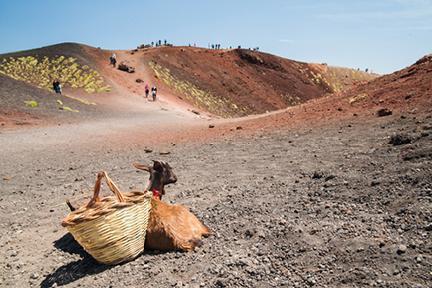
[{"label": "grey gravelly volcanic ground around the goat and basket", "polygon": [[[411,143],[389,144],[395,134]],[[113,150],[109,143],[98,151],[0,151],[0,286],[432,286],[430,114],[170,151]],[[214,235],[196,252],[95,263],[60,226],[64,199],[88,196],[82,191],[101,169],[125,190],[142,189],[147,175],[130,163],[157,158],[179,178],[166,200],[191,207]]]}]

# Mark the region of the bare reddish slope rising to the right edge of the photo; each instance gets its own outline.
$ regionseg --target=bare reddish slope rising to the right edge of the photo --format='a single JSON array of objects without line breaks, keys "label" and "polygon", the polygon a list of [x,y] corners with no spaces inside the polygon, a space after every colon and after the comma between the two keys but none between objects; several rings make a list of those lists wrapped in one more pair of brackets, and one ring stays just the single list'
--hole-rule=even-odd
[{"label": "bare reddish slope rising to the right edge of the photo", "polygon": [[[328,94],[270,115],[245,118],[241,125],[246,131],[298,125],[311,127],[344,119],[375,119],[381,109],[402,118],[423,114],[432,117],[432,55],[342,93]],[[231,133],[231,127],[221,127],[220,132]]]}]

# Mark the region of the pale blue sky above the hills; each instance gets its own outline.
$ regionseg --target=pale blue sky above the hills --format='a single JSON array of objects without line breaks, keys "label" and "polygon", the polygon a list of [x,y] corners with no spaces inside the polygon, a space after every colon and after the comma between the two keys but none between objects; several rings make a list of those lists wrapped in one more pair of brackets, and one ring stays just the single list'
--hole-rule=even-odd
[{"label": "pale blue sky above the hills", "polygon": [[432,52],[432,0],[0,0],[0,53],[167,39],[389,73]]}]

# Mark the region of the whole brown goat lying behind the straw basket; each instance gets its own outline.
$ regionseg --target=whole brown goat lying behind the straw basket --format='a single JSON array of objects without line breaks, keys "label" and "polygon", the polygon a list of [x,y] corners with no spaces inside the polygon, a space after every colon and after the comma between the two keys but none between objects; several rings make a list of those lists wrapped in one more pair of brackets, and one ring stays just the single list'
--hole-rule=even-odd
[{"label": "whole brown goat lying behind the straw basket", "polygon": [[[168,163],[153,162],[153,167],[134,164],[137,169],[150,173],[147,190],[153,193],[145,249],[194,250],[202,244],[202,237],[210,235],[210,230],[185,206],[161,201],[165,195],[165,185],[175,183],[177,177]],[[75,210],[69,201],[66,203],[71,211]]]}]

